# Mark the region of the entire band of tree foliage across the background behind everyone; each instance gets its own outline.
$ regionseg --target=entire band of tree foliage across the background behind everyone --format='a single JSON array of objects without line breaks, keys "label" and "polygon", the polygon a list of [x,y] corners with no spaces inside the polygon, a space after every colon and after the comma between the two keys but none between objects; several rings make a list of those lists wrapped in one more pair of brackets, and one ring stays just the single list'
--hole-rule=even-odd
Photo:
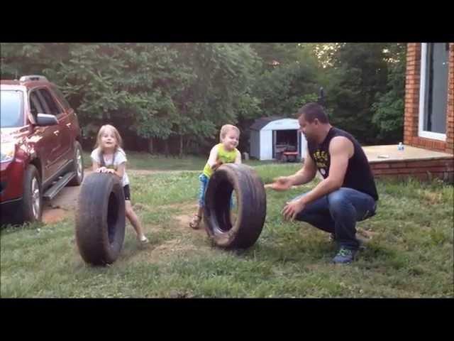
[{"label": "entire band of tree foliage across the background behind everyone", "polygon": [[391,43],[1,43],[1,78],[43,74],[87,139],[111,122],[140,141],[209,148],[238,124],[294,117],[326,90],[333,124],[360,141],[402,135],[405,45]]}]

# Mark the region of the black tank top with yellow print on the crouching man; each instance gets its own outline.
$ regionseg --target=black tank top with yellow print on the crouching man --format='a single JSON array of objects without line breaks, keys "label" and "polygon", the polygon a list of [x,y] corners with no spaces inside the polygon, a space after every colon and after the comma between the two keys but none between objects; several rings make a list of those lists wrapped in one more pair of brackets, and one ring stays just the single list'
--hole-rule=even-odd
[{"label": "black tank top with yellow print on the crouching man", "polygon": [[311,143],[308,141],[309,156],[316,164],[319,172],[323,178],[328,178],[329,166],[331,165],[331,158],[329,155],[329,144],[331,139],[336,136],[344,136],[353,143],[355,151],[353,156],[348,160],[347,171],[343,180],[342,187],[353,188],[359,190],[362,193],[366,193],[378,200],[377,188],[375,187],[374,176],[369,166],[369,161],[362,150],[362,147],[356,141],[356,139],[348,134],[348,132],[341,129],[331,127],[328,131],[328,135],[321,144]]}]

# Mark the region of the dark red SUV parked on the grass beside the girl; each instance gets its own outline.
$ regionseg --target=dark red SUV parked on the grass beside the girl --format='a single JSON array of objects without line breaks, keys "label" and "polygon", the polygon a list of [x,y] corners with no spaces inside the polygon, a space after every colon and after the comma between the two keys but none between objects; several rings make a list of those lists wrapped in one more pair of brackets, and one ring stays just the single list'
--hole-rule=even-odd
[{"label": "dark red SUV parked on the grass beside the girl", "polygon": [[84,177],[77,115],[43,76],[1,80],[2,220],[40,221],[43,200]]}]

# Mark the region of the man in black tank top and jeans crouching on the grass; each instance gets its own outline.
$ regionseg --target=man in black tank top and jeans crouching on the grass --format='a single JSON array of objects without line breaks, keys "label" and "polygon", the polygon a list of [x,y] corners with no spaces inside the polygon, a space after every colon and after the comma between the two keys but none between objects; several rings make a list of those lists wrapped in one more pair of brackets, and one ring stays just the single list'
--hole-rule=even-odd
[{"label": "man in black tank top and jeans crouching on the grass", "polygon": [[274,190],[288,190],[313,180],[317,169],[323,180],[308,193],[287,202],[284,219],[309,222],[331,233],[338,244],[335,264],[350,263],[360,247],[356,222],[375,215],[377,188],[367,157],[348,132],[331,126],[323,107],[308,103],[298,112],[300,131],[307,140],[304,166],[294,175],[279,177]]}]

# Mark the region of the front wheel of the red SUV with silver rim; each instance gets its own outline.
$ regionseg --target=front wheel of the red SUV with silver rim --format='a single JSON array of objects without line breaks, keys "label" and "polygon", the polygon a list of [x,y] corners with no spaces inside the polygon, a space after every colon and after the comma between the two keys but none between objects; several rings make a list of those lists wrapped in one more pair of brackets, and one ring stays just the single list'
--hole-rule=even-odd
[{"label": "front wheel of the red SUV with silver rim", "polygon": [[16,214],[16,222],[40,222],[43,216],[43,192],[38,169],[29,165],[23,175],[23,197]]}]

